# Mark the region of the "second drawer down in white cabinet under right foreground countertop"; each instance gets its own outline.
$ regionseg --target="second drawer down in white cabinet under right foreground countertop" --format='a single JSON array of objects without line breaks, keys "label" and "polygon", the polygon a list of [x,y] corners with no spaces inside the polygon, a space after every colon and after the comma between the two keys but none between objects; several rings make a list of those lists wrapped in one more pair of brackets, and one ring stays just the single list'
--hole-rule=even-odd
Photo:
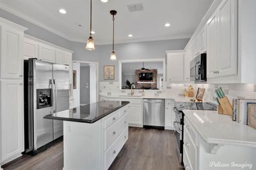
[{"label": "second drawer down in white cabinet under right foreground countertop", "polygon": [[191,167],[195,169],[196,166],[196,157],[197,149],[195,144],[191,141],[191,138],[188,136],[188,132],[184,132],[184,150],[188,153],[188,160],[191,164]]}]

